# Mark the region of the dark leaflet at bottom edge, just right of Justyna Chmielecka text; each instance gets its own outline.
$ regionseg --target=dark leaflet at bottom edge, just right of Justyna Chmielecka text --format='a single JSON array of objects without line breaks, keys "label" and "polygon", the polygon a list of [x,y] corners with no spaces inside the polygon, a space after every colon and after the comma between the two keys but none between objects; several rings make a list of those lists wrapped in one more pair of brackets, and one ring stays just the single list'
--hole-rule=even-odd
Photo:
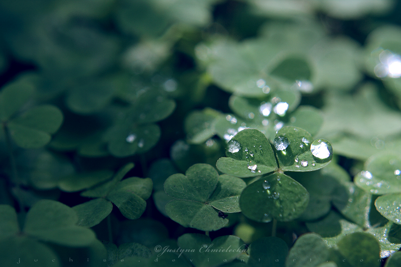
[{"label": "dark leaflet at bottom edge, just right of Justyna Chmielecka text", "polygon": [[278,237],[262,237],[249,246],[248,265],[283,267],[288,253],[286,242]]}]

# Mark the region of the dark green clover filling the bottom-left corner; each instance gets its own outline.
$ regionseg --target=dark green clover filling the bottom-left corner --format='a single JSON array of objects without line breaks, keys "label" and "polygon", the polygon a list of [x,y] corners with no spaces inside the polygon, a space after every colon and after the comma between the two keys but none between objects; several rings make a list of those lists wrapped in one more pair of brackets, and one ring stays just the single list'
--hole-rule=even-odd
[{"label": "dark green clover filling the bottom-left corner", "polygon": [[6,262],[22,258],[22,253],[26,255],[24,261],[35,259],[42,260],[43,263],[48,262],[50,257],[57,259],[57,262],[50,262],[59,266],[59,257],[47,243],[82,249],[96,240],[91,229],[77,225],[78,216],[72,208],[54,200],[40,200],[35,203],[27,213],[22,230],[14,208],[0,205],[0,210],[3,214],[0,219],[0,245],[3,249],[0,254]]}]

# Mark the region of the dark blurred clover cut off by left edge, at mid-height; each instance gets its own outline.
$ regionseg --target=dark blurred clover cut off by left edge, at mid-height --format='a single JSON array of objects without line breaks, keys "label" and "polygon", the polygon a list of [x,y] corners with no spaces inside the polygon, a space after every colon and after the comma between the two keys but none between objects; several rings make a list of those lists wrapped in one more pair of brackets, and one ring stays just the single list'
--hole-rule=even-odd
[{"label": "dark blurred clover cut off by left edge, at mid-height", "polygon": [[52,105],[36,106],[16,114],[33,94],[33,85],[24,79],[8,84],[0,93],[0,121],[6,134],[23,148],[46,145],[63,122],[62,112]]}]

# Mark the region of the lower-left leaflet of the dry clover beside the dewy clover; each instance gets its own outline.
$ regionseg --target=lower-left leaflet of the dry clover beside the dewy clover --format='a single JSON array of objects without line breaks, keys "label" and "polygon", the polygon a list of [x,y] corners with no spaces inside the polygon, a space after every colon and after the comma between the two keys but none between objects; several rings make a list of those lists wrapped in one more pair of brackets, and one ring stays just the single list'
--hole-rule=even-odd
[{"label": "lower-left leaflet of the dry clover beside the dewy clover", "polygon": [[168,202],[165,209],[173,221],[201,231],[216,231],[229,222],[212,206],[202,202],[176,199]]}]

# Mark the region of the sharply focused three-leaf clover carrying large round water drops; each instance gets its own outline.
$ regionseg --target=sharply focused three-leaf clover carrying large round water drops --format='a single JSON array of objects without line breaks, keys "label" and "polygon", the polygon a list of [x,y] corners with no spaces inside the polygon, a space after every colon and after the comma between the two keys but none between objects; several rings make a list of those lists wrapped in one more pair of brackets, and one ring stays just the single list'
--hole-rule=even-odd
[{"label": "sharply focused three-leaf clover carrying large round water drops", "polygon": [[273,218],[292,220],[308,205],[309,193],[284,171],[312,171],[326,166],[332,156],[331,144],[325,139],[314,140],[298,127],[283,127],[276,133],[272,145],[256,129],[245,129],[228,143],[226,155],[217,168],[237,177],[255,177],[269,172],[249,184],[241,194],[240,207],[245,216],[268,222]]}]

